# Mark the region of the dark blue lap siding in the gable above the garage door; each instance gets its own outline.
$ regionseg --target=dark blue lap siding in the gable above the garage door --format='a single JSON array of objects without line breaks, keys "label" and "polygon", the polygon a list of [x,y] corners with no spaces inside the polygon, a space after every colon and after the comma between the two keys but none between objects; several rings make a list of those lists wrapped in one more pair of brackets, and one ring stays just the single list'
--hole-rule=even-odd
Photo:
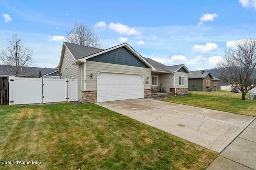
[{"label": "dark blue lap siding in the gable above the garage door", "polygon": [[88,61],[148,68],[146,64],[140,61],[140,59],[126,49],[126,47],[120,47],[96,57],[92,57],[88,59]]}]

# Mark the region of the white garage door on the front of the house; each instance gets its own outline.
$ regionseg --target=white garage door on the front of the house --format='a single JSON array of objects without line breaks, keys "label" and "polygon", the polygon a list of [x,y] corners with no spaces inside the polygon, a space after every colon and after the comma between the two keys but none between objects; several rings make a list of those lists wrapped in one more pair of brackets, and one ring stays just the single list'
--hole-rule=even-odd
[{"label": "white garage door on the front of the house", "polygon": [[97,102],[144,98],[142,75],[100,72]]}]

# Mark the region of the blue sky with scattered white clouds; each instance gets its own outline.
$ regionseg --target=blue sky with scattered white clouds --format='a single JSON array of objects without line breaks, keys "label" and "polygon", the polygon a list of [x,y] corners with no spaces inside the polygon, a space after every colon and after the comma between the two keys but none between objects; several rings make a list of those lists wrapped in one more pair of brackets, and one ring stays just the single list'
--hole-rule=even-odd
[{"label": "blue sky with scattered white clouds", "polygon": [[189,70],[214,68],[237,41],[256,38],[256,0],[0,0],[0,49],[14,33],[37,67],[59,64],[74,23],[85,23],[102,49],[128,43],[142,57]]}]

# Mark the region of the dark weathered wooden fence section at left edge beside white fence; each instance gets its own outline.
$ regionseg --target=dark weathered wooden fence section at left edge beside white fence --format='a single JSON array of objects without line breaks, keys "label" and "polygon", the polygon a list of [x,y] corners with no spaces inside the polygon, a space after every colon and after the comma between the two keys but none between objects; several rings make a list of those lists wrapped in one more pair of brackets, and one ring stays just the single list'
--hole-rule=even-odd
[{"label": "dark weathered wooden fence section at left edge beside white fence", "polygon": [[0,104],[9,104],[8,77],[0,77]]}]

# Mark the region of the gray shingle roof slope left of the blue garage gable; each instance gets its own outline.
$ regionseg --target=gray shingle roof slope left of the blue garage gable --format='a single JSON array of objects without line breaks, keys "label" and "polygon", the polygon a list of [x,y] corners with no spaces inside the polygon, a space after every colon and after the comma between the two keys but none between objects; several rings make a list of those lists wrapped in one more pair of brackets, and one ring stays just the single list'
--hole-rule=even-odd
[{"label": "gray shingle roof slope left of the blue garage gable", "polygon": [[88,47],[84,45],[77,45],[73,43],[67,43],[67,42],[63,42],[63,43],[66,45],[66,47],[68,47],[69,51],[72,53],[75,59],[81,59],[83,57],[86,57],[104,50],[104,49],[97,49],[94,47]]}]

